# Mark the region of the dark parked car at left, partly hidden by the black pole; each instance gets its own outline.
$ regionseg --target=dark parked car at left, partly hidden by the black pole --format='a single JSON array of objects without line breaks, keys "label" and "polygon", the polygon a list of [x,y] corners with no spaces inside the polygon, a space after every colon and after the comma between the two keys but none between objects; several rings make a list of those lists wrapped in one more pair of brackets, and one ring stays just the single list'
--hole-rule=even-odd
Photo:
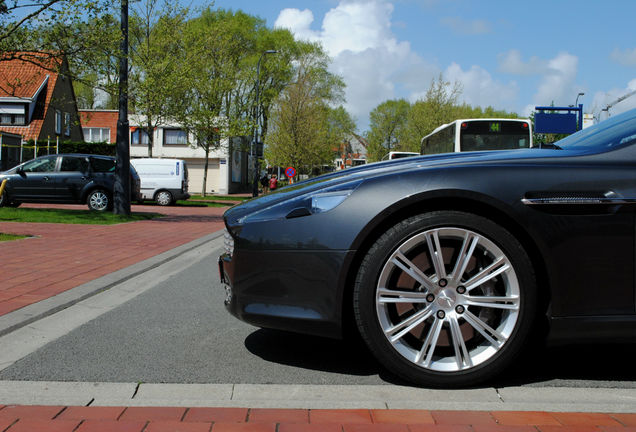
[{"label": "dark parked car at left, partly hidden by the black pole", "polygon": [[[0,173],[7,179],[0,207],[25,202],[81,203],[96,211],[111,209],[116,159],[90,154],[40,156]],[[139,176],[130,169],[131,200],[139,199]]]}]

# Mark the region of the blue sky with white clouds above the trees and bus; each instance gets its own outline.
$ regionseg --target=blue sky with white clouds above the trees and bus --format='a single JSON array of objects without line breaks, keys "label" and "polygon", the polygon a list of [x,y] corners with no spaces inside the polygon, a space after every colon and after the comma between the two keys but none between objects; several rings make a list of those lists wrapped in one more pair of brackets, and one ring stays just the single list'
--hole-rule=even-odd
[{"label": "blue sky with white clouds above the trees and bus", "polygon": [[[574,104],[579,92],[584,110],[598,113],[636,90],[634,0],[216,0],[214,7],[322,42],[361,130],[379,103],[415,101],[440,73],[462,84],[462,101],[521,115]],[[634,107],[636,96],[611,112]]]}]

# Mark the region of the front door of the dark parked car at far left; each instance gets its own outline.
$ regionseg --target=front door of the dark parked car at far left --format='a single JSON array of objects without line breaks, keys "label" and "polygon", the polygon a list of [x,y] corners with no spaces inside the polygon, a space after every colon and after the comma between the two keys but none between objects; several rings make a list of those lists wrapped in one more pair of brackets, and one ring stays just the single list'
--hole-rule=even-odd
[{"label": "front door of the dark parked car at far left", "polygon": [[11,195],[18,201],[54,200],[57,155],[26,162],[11,179]]}]

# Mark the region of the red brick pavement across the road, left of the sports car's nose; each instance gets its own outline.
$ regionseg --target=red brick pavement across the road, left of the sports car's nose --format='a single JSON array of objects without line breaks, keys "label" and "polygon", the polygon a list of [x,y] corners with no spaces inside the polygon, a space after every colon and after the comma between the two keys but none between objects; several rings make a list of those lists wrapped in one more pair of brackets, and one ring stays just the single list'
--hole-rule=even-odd
[{"label": "red brick pavement across the road, left of the sports car's nose", "polygon": [[165,216],[118,225],[1,222],[0,232],[34,237],[0,243],[0,316],[219,231],[226,209],[135,205]]}]

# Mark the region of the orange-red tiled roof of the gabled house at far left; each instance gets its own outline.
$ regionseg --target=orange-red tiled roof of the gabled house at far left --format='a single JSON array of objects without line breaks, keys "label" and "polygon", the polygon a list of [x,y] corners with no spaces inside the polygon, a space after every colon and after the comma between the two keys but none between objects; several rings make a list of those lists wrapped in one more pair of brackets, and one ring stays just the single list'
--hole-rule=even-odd
[{"label": "orange-red tiled roof of the gabled house at far left", "polygon": [[52,54],[3,53],[0,58],[0,98],[33,98],[37,90],[46,82],[37,101],[37,106],[27,126],[2,126],[1,132],[22,135],[25,140],[37,139],[42,130],[46,111],[51,102],[57,82],[56,70],[61,60]]}]

